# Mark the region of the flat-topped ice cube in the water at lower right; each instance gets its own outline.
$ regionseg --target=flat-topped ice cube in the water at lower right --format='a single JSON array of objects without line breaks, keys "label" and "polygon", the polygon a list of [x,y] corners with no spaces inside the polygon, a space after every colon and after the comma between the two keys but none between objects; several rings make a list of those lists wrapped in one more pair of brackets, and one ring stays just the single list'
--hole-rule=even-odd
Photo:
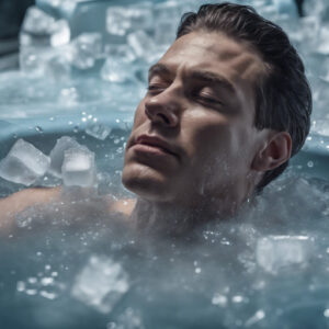
[{"label": "flat-topped ice cube in the water at lower right", "polygon": [[262,269],[276,274],[293,265],[306,266],[311,247],[307,236],[268,236],[258,240],[256,258]]}]

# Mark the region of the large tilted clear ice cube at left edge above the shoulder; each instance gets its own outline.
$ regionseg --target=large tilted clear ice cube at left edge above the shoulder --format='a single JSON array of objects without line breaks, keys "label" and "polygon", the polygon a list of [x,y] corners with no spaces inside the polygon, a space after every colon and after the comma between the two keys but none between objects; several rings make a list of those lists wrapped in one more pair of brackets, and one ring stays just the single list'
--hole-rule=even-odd
[{"label": "large tilted clear ice cube at left edge above the shoulder", "polygon": [[0,162],[0,177],[24,185],[33,184],[49,167],[49,158],[32,144],[19,139]]}]

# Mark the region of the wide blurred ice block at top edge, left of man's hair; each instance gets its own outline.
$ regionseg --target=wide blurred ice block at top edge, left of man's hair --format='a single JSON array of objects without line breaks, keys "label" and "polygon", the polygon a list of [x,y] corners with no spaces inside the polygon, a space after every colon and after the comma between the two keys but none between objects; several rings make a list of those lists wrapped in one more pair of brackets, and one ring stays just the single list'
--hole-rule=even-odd
[{"label": "wide blurred ice block at top edge, left of man's hair", "polygon": [[110,7],[106,12],[106,30],[111,34],[125,35],[128,30],[150,29],[150,8]]}]

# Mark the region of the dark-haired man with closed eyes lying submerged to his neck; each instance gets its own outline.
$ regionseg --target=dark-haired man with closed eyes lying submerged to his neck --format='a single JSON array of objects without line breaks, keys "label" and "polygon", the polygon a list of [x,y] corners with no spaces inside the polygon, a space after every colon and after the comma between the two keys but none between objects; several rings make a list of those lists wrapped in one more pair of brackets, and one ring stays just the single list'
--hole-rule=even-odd
[{"label": "dark-haired man with closed eyes lying submerged to his neck", "polygon": [[[182,18],[136,110],[123,170],[136,205],[109,208],[174,232],[229,217],[302,148],[310,112],[303,63],[279,26],[250,7],[202,5]],[[60,197],[26,191],[2,213]]]}]

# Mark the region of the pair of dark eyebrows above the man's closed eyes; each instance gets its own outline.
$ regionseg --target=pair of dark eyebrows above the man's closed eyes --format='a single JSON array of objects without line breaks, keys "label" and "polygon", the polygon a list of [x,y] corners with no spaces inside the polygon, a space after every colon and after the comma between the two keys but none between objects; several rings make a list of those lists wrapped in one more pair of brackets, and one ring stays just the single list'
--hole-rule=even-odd
[{"label": "pair of dark eyebrows above the man's closed eyes", "polygon": [[[155,75],[171,76],[172,72],[166,65],[158,63],[158,64],[152,65],[149,68],[149,70],[148,70],[149,80]],[[193,80],[198,80],[201,82],[220,86],[220,87],[225,88],[227,91],[229,91],[230,93],[236,93],[236,89],[231,82],[229,82],[226,78],[224,78],[219,75],[216,75],[214,72],[204,71],[204,70],[195,70],[190,73],[190,77]]]}]

